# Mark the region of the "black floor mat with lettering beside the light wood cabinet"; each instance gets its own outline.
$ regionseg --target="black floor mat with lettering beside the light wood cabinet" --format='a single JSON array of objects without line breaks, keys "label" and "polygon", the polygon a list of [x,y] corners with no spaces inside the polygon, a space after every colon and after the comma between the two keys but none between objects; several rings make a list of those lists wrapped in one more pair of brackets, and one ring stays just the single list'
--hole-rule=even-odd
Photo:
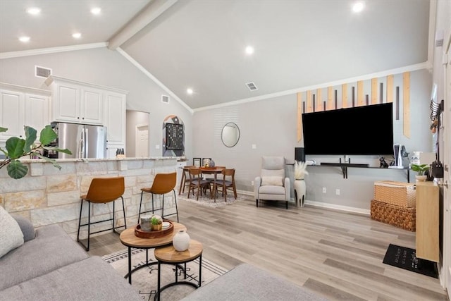
[{"label": "black floor mat with lettering beside the light wood cabinet", "polygon": [[390,244],[383,258],[383,263],[438,278],[438,270],[435,262],[416,258],[416,250],[409,247]]}]

